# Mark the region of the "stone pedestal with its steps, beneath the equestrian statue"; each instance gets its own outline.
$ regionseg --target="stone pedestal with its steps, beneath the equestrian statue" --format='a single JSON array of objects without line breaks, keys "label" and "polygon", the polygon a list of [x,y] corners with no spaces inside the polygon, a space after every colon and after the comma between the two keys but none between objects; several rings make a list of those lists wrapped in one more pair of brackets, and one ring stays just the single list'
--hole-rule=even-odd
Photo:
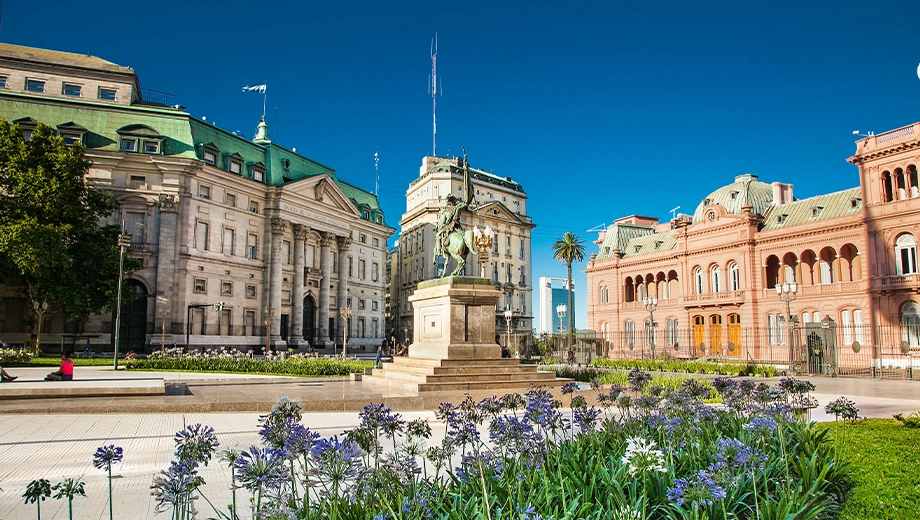
[{"label": "stone pedestal with its steps, beneath the equestrian statue", "polygon": [[369,370],[363,381],[404,390],[468,391],[559,386],[553,372],[503,359],[495,342],[495,304],[501,293],[487,278],[427,280],[409,297],[416,342],[408,357]]}]

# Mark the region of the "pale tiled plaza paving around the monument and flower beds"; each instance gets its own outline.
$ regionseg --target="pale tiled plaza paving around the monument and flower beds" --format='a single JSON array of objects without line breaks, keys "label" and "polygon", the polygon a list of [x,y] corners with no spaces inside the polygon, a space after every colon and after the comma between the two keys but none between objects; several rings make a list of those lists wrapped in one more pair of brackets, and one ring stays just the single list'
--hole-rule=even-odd
[{"label": "pale tiled plaza paving around the monument and flower beds", "polygon": [[[20,379],[43,376],[47,369],[13,369]],[[85,378],[145,377],[149,372],[114,374],[110,368],[83,368]],[[153,475],[166,469],[173,457],[173,435],[185,425],[203,423],[213,427],[220,449],[245,449],[259,442],[257,420],[260,413],[283,396],[301,400],[310,410],[304,424],[323,436],[340,434],[358,424],[357,411],[367,402],[386,402],[406,419],[428,418],[435,438],[443,426],[434,420],[438,402],[457,403],[462,393],[434,396],[393,392],[349,379],[298,379],[209,374],[156,374],[166,380],[170,391],[165,396],[119,398],[16,399],[0,400],[0,518],[35,518],[35,506],[23,504],[20,496],[26,485],[38,478],[52,484],[63,477],[83,475],[86,498],[74,501],[75,518],[108,518],[105,472],[93,468],[92,454],[97,447],[115,444],[124,448],[124,462],[114,466],[113,493],[115,518],[154,518],[150,495]],[[778,381],[778,378],[767,380]],[[813,378],[813,394],[821,403],[812,419],[833,420],[823,412],[829,401],[846,396],[856,403],[860,415],[889,418],[894,413],[920,409],[920,383],[867,379]],[[16,384],[16,383],[4,383]],[[60,383],[49,383],[60,384]],[[0,387],[2,390],[2,387]],[[590,396],[593,392],[588,391]],[[485,397],[492,393],[484,393]],[[568,399],[564,399],[567,402]],[[357,404],[357,403],[360,403]],[[173,412],[167,412],[169,407]],[[210,411],[209,411],[210,410]],[[50,411],[50,412],[49,412]],[[230,502],[229,470],[218,461],[203,468],[209,484],[204,496],[215,507]],[[240,491],[245,497],[245,491]],[[241,498],[244,502],[245,498]],[[197,506],[199,518],[215,516],[204,500]],[[66,502],[47,500],[42,518],[67,518]]]}]

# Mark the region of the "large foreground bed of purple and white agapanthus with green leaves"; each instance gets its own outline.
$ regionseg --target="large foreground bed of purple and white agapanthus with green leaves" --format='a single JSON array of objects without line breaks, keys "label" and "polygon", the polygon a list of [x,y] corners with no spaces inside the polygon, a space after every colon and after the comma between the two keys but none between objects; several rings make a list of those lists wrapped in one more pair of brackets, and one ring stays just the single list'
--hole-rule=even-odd
[{"label": "large foreground bed of purple and white agapanthus with green leaves", "polygon": [[[692,382],[654,395],[649,379],[636,373],[630,387],[606,389],[600,408],[574,383],[563,389],[565,412],[542,389],[444,403],[441,438],[427,421],[369,404],[359,427],[323,439],[301,424],[298,402],[282,399],[259,421],[261,446],[218,452],[206,426],[177,433],[176,459],[153,494],[175,519],[195,507],[279,520],[807,520],[837,511],[846,467],[824,432],[789,413],[797,397],[784,388],[804,387],[720,379],[726,406],[714,409]],[[198,474],[214,455],[231,470],[229,510],[212,509]],[[204,503],[193,506],[197,497]]]}]

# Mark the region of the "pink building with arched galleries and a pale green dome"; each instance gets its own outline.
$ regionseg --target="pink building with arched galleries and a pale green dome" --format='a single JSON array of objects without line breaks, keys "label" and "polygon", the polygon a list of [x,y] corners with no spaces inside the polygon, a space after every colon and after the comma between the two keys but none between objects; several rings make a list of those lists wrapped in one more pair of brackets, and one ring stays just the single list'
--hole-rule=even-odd
[{"label": "pink building with arched galleries and a pale green dome", "polygon": [[857,141],[848,162],[860,182],[851,189],[795,199],[791,184],[744,174],[692,216],[615,221],[586,269],[589,328],[611,357],[912,366],[920,355],[918,139],[920,123]]}]

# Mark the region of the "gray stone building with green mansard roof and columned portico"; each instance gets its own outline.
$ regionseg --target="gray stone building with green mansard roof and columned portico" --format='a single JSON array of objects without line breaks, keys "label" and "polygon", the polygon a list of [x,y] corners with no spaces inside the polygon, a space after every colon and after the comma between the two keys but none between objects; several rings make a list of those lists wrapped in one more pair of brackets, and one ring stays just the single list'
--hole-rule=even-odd
[{"label": "gray stone building with green mansard roof and columned portico", "polygon": [[[149,99],[149,98],[148,98]],[[86,180],[120,205],[143,267],[122,307],[120,350],[341,345],[384,337],[387,226],[377,197],[271,141],[145,99],[134,71],[94,56],[0,44],[0,117],[28,138],[41,122],[81,142]],[[43,346],[112,347],[114,311],[65,323],[54,302]],[[216,303],[222,303],[216,306]],[[26,343],[32,302],[0,287],[0,339]]]}]

